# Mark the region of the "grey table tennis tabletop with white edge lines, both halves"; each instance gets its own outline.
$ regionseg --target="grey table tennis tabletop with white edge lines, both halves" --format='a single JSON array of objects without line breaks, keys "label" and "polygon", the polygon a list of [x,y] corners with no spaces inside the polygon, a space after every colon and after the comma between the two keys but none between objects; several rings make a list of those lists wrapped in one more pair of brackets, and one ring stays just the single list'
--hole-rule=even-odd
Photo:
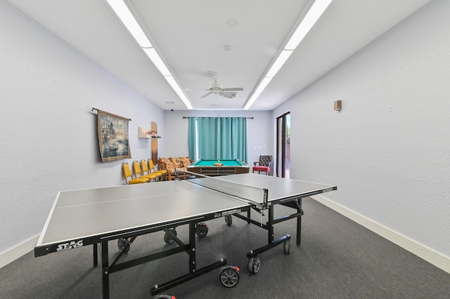
[{"label": "grey table tennis tabletop with white edge lines, both halves", "polygon": [[[216,180],[267,189],[269,203],[335,190],[334,185],[254,173],[226,175]],[[248,205],[248,202],[195,185],[190,180],[63,191],[57,194],[36,247],[111,236],[116,232],[120,234]]]}]

